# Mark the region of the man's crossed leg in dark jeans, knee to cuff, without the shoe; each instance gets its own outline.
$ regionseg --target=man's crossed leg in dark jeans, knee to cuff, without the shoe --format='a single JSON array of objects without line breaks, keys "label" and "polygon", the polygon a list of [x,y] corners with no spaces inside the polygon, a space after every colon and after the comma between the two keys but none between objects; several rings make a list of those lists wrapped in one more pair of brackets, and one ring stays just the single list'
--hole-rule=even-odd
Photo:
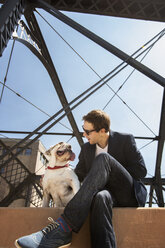
[{"label": "man's crossed leg in dark jeans, knee to cuff, without the shoe", "polygon": [[78,232],[99,191],[107,188],[120,206],[137,206],[133,178],[127,170],[107,153],[98,155],[80,190],[68,203],[62,215],[73,231]]}]

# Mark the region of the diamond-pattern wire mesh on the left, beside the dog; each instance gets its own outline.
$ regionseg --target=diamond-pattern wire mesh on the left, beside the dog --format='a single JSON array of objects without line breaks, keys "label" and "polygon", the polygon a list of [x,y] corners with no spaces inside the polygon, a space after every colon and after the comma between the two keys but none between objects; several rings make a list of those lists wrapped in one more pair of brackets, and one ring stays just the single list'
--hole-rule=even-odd
[{"label": "diamond-pattern wire mesh on the left, beside the dog", "polygon": [[[2,142],[3,144],[3,142]],[[0,147],[0,155],[10,148]],[[1,206],[11,204],[17,199],[24,199],[25,206],[42,206],[42,187],[38,184],[38,179],[28,171],[25,165],[18,159],[12,158],[12,154],[8,154],[4,159],[0,160],[0,203]],[[12,158],[9,163],[5,163]],[[31,175],[31,177],[29,177]],[[22,183],[22,187],[20,187]],[[12,199],[8,199],[11,196]]]}]

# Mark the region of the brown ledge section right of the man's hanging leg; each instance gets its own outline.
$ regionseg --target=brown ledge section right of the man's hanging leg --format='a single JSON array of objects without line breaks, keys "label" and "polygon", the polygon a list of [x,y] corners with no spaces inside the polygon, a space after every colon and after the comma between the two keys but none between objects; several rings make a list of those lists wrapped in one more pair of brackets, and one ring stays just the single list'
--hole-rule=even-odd
[{"label": "brown ledge section right of the man's hanging leg", "polygon": [[116,208],[118,248],[164,248],[165,208]]}]

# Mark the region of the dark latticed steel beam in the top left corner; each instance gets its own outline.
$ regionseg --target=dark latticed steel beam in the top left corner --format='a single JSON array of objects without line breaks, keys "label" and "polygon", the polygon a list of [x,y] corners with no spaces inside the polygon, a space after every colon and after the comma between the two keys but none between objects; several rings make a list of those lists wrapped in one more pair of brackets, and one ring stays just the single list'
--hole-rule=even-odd
[{"label": "dark latticed steel beam in the top left corner", "polygon": [[23,14],[25,0],[7,0],[0,8],[0,56]]}]

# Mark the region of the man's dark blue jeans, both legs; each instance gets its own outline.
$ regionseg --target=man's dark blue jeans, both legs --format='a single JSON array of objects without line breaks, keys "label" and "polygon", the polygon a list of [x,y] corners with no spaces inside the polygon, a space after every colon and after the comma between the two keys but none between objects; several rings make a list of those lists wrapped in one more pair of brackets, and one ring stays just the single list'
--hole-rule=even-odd
[{"label": "man's dark blue jeans, both legs", "polygon": [[112,207],[137,207],[133,178],[108,153],[99,154],[77,194],[65,207],[63,218],[78,232],[90,213],[93,248],[116,248]]}]

